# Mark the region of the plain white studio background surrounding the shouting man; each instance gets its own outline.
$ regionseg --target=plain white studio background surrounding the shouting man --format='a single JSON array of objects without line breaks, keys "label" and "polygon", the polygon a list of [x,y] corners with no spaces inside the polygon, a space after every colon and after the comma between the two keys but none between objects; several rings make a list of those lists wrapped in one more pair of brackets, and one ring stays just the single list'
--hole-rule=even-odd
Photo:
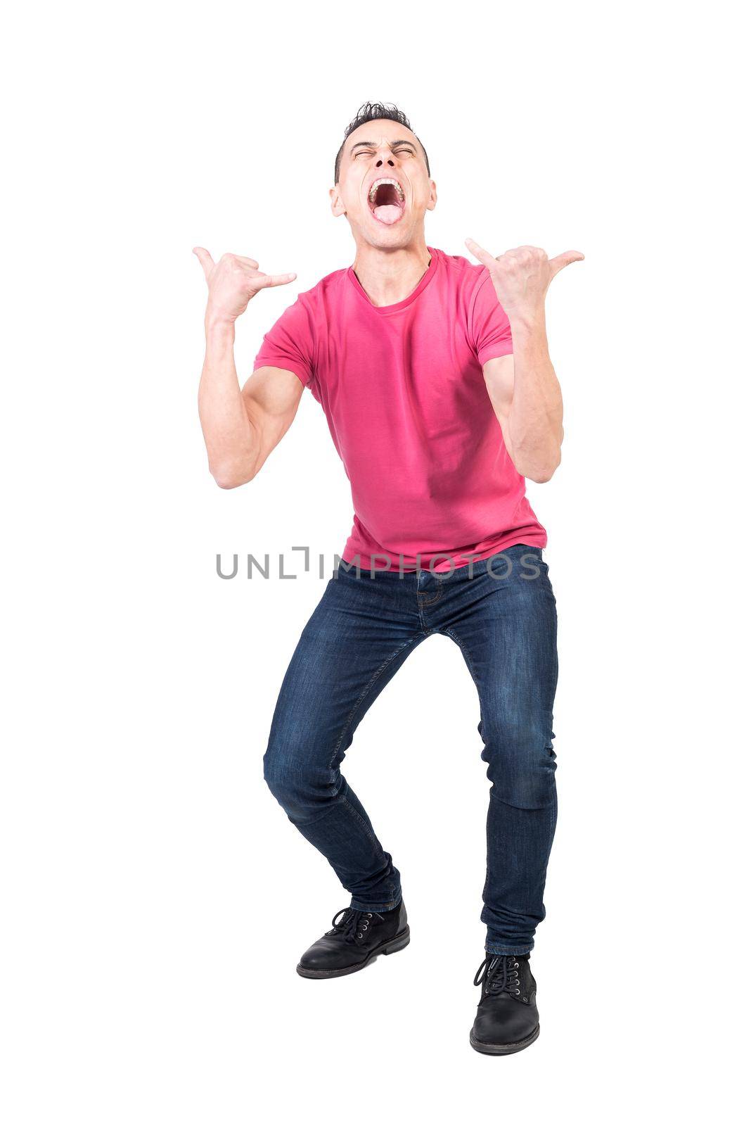
[{"label": "plain white studio background surrounding the shouting man", "polygon": [[[37,5],[6,25],[4,913],[9,1124],[739,1120],[748,184],[734,6]],[[349,266],[327,189],[367,99],[425,143],[428,244],[586,260],[553,282],[565,441],[531,485],[560,616],[559,829],[542,1035],[470,1049],[488,783],[449,641],[345,772],[401,870],[397,958],[302,981],[346,904],[261,759],[352,519],[308,394],[223,492],[196,408],[191,247],[296,282],[238,325],[243,378]]]}]

